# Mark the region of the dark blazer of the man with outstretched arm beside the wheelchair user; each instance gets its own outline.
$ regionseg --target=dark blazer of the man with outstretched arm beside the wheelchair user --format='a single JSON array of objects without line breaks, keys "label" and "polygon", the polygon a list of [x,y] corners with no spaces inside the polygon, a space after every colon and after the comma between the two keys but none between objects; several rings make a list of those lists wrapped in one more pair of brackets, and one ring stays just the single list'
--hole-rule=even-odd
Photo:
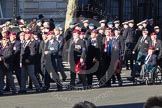
[{"label": "dark blazer of the man with outstretched arm beside the wheelchair user", "polygon": [[147,36],[143,42],[141,42],[142,36],[138,39],[138,42],[134,48],[134,51],[140,51],[142,53],[147,53],[149,46],[151,46],[151,38]]}]

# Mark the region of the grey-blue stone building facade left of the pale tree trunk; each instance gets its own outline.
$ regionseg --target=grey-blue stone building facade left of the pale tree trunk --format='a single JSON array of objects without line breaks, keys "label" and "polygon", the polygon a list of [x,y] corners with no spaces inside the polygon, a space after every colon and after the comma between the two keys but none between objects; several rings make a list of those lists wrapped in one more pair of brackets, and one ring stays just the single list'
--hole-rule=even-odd
[{"label": "grey-blue stone building facade left of the pale tree trunk", "polygon": [[43,14],[45,18],[62,21],[66,15],[67,0],[1,0],[1,7],[3,18],[13,18],[16,14],[30,19]]}]

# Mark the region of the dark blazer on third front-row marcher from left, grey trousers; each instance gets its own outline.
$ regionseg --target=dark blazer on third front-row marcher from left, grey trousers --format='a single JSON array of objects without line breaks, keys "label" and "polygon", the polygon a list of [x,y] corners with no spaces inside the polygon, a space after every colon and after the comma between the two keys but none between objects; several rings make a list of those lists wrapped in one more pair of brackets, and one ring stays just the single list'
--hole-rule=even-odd
[{"label": "dark blazer on third front-row marcher from left, grey trousers", "polygon": [[[30,40],[26,46],[25,43],[21,46],[20,63],[23,65],[35,64],[36,43]],[[29,63],[26,63],[25,60],[29,60]]]}]

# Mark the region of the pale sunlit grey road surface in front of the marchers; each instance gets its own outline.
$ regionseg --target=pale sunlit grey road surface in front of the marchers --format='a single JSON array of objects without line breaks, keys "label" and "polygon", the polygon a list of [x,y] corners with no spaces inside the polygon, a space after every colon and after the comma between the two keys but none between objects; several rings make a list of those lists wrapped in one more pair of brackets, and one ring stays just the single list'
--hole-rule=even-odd
[{"label": "pale sunlit grey road surface in front of the marchers", "polygon": [[[69,83],[69,71],[66,71]],[[5,95],[0,97],[0,108],[72,108],[81,101],[93,102],[97,108],[143,108],[144,102],[151,96],[162,95],[162,84],[133,85],[126,80],[129,70],[123,69],[122,87],[113,85],[110,88],[72,90],[56,92],[51,89],[46,93],[31,91],[25,95]],[[55,84],[52,85],[55,87]]]}]

